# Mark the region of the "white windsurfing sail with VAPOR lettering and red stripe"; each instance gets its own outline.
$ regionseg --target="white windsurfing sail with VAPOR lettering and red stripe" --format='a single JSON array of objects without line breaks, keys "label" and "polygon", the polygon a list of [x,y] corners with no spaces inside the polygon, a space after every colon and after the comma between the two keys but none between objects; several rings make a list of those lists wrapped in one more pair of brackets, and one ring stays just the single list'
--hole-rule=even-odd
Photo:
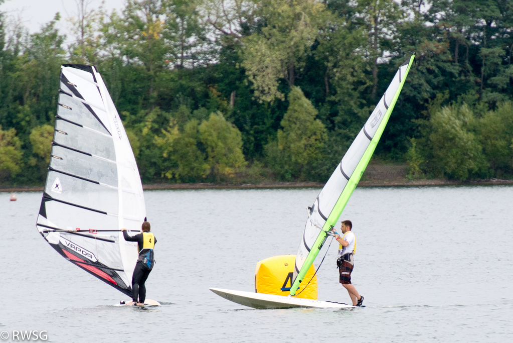
[{"label": "white windsurfing sail with VAPOR lettering and red stripe", "polygon": [[65,64],[46,186],[36,227],[64,258],[131,296],[146,217],[139,169],[95,67]]}]

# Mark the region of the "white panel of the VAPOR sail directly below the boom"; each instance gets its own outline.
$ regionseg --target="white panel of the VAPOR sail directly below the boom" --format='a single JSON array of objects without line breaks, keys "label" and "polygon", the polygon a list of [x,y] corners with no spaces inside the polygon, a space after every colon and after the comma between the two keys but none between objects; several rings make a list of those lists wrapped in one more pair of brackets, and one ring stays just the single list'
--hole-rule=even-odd
[{"label": "white panel of the VAPOR sail directly below the boom", "polygon": [[[106,242],[101,239],[95,239],[92,237],[84,237],[79,235],[74,235],[70,233],[60,233],[65,240],[61,239],[61,243],[64,246],[69,246],[69,242],[76,244],[78,247],[78,251],[81,249],[85,249],[89,251],[95,258],[92,259],[92,262],[96,262],[96,260],[102,264],[105,264],[109,268],[121,269],[123,270],[123,264],[121,263],[121,253],[120,253],[120,245],[118,243],[119,240],[119,232],[116,232],[116,237],[105,236],[100,233],[98,234],[89,234],[88,236],[95,236],[98,238],[107,238],[109,240],[116,239],[115,242]],[[76,251],[76,250],[75,250]],[[84,255],[85,256],[85,255]]]}]

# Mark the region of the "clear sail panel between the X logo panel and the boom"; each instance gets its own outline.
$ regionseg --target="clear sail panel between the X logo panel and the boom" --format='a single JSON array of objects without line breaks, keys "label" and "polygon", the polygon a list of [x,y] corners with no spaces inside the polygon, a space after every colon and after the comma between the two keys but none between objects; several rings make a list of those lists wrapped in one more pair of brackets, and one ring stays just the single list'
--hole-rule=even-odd
[{"label": "clear sail panel between the X logo panel and the boom", "polygon": [[[50,226],[55,226],[61,230],[75,230],[76,228],[81,230],[118,230],[117,217],[115,216],[89,211],[58,201],[46,201],[45,206],[48,221],[53,223]],[[102,234],[117,237],[117,232],[104,232]]]}]

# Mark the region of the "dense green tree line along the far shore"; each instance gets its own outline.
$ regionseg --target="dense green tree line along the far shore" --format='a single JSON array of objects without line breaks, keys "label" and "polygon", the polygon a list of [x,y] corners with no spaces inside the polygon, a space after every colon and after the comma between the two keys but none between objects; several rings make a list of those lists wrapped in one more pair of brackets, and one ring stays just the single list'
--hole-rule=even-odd
[{"label": "dense green tree line along the far shore", "polygon": [[102,74],[143,182],[326,181],[412,53],[376,163],[513,177],[513,0],[75,4],[35,33],[0,13],[4,184],[45,180],[64,63]]}]

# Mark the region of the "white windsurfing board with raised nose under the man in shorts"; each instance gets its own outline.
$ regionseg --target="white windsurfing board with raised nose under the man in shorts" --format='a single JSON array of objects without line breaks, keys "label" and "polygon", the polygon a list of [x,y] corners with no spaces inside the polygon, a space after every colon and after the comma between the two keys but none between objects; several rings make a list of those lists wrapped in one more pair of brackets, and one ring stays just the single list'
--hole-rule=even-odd
[{"label": "white windsurfing board with raised nose under the man in shorts", "polygon": [[253,293],[244,291],[209,288],[220,297],[254,309],[289,309],[293,307],[313,307],[321,309],[348,309],[354,306],[331,301],[284,297],[283,295]]}]

